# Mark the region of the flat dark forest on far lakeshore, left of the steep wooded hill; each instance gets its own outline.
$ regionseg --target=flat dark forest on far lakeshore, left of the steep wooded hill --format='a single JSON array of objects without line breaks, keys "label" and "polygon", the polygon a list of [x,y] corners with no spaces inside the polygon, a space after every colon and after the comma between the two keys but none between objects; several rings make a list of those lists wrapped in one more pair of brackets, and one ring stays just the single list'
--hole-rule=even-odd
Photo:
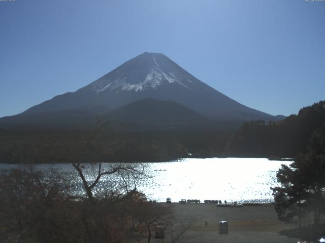
[{"label": "flat dark forest on far lakeshore, left of the steep wooded hill", "polygon": [[0,130],[0,163],[154,162],[215,157],[230,131]]}]

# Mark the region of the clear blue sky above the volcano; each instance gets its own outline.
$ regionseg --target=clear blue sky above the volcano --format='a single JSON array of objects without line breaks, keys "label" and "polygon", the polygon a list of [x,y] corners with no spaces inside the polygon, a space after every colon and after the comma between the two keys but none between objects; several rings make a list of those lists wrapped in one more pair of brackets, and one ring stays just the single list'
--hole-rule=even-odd
[{"label": "clear blue sky above the volcano", "polygon": [[325,99],[325,1],[0,2],[0,117],[147,51],[270,114]]}]

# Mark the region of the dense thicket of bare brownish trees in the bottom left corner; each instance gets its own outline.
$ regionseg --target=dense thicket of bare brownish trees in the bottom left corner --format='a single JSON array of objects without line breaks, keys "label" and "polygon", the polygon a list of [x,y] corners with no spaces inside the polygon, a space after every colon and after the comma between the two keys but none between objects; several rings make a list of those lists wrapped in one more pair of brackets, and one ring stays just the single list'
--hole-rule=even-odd
[{"label": "dense thicket of bare brownish trees in the bottom left corner", "polygon": [[[60,174],[34,169],[2,171],[1,242],[76,242],[80,239],[71,183]],[[74,226],[74,227],[73,227]]]}]

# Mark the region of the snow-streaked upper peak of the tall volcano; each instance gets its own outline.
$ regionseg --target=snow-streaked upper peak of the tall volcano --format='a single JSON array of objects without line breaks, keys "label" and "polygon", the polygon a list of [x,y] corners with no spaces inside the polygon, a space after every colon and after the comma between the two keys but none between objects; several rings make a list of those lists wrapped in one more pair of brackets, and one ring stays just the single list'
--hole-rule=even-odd
[{"label": "snow-streaked upper peak of the tall volcano", "polygon": [[183,78],[183,69],[164,54],[143,53],[117,67],[91,84],[99,94],[104,91],[144,91],[163,84],[181,85],[193,89],[193,82]]}]

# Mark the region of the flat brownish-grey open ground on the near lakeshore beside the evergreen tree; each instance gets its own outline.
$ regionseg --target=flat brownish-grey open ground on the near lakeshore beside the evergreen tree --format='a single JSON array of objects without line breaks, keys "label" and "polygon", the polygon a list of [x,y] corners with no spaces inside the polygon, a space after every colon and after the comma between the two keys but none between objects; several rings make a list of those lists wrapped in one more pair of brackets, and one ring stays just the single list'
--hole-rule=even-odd
[{"label": "flat brownish-grey open ground on the near lakeshore beside the evergreen tree", "polygon": [[[294,243],[298,241],[298,239],[279,234],[279,231],[296,228],[297,225],[280,222],[272,204],[244,206],[243,208],[218,208],[214,204],[173,203],[166,207],[173,207],[175,217],[183,222],[196,218],[194,225],[178,242]],[[220,221],[228,221],[229,234],[219,234]],[[205,222],[208,226],[205,226]],[[165,240],[152,239],[151,242],[169,242],[168,235],[169,232],[166,232]]]}]

